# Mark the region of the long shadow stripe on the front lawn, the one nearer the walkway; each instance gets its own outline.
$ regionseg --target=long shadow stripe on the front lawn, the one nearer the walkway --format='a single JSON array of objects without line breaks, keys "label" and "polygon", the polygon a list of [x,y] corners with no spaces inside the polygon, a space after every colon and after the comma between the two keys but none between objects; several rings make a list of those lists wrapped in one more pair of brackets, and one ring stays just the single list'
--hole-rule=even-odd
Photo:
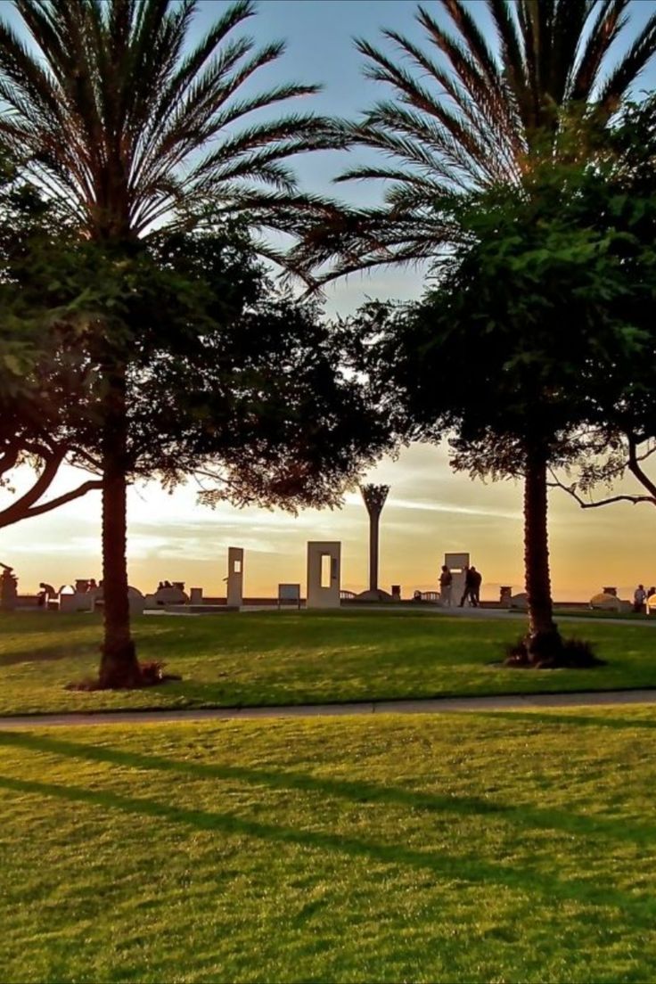
[{"label": "long shadow stripe on the front lawn, the one nearer the walkway", "polygon": [[50,738],[26,731],[0,731],[0,748],[14,746],[34,752],[46,752],[66,758],[101,762],[129,769],[173,772],[200,779],[236,780],[267,786],[270,789],[294,789],[347,799],[355,803],[384,803],[410,810],[455,814],[462,817],[482,816],[506,820],[529,830],[561,830],[567,834],[602,837],[645,846],[656,841],[655,824],[627,824],[623,818],[581,816],[565,810],[542,809],[525,804],[484,799],[476,796],[447,796],[417,792],[401,786],[383,786],[361,780],[325,778],[307,772],[252,769],[243,766],[209,765],[161,756],[126,752],[107,746]]}]

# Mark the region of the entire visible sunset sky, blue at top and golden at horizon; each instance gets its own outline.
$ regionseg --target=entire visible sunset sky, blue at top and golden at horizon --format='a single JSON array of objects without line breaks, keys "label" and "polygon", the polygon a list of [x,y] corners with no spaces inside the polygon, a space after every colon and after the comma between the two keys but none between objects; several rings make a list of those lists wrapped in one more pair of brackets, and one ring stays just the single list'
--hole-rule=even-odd
[{"label": "entire visible sunset sky, blue at top and golden at horizon", "polygon": [[[202,4],[198,31],[209,26],[225,4]],[[431,6],[430,0],[428,6]],[[474,4],[474,9],[476,9]],[[642,24],[656,8],[652,0],[634,5],[634,23]],[[250,23],[261,41],[284,37],[288,49],[276,66],[258,76],[262,89],[282,81],[323,82],[325,92],[303,108],[353,115],[387,94],[363,79],[353,35],[376,40],[388,27],[421,38],[413,23],[412,0],[265,0]],[[0,15],[11,14],[0,3]],[[654,66],[640,89],[651,89]],[[364,154],[315,154],[297,161],[303,187],[335,194],[331,179]],[[380,200],[380,188],[341,185],[338,194],[360,204]],[[347,314],[367,297],[409,299],[419,295],[420,271],[383,271],[350,277],[329,288],[328,315]],[[445,551],[468,550],[484,577],[483,597],[499,595],[500,584],[522,588],[521,488],[511,482],[483,485],[453,475],[445,449],[414,446],[397,461],[382,461],[367,480],[391,486],[383,513],[381,584],[434,587]],[[63,473],[58,488],[71,483]],[[8,493],[0,494],[0,503]],[[130,581],[150,590],[159,580],[203,586],[222,593],[227,547],[243,546],[245,589],[250,595],[276,592],[280,581],[305,584],[308,539],[342,541],[342,586],[362,589],[367,582],[367,514],[357,493],[348,494],[341,511],[305,512],[297,518],[279,511],[211,511],[196,504],[193,485],[173,495],[156,485],[130,493]],[[616,584],[625,594],[638,581],[656,583],[656,509],[618,505],[582,512],[562,492],[552,495],[551,546],[557,598],[589,598],[602,585]],[[15,567],[20,589],[39,581],[58,587],[75,578],[100,577],[99,499],[89,495],[47,516],[0,531],[0,561]]]}]

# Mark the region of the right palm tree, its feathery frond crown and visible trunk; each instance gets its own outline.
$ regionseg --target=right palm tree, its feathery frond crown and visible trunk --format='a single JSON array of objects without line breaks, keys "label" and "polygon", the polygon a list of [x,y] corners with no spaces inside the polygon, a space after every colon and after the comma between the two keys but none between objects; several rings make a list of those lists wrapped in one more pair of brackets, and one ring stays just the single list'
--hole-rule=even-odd
[{"label": "right palm tree, its feathery frond crown and visible trunk", "polygon": [[[392,53],[366,40],[366,74],[387,86],[351,146],[380,160],[338,180],[382,180],[382,207],[344,213],[315,230],[299,265],[324,279],[388,264],[435,263],[463,235],[453,196],[511,184],[534,163],[571,154],[567,119],[608,121],[656,50],[656,14],[631,31],[632,0],[436,0],[419,6],[426,45],[384,31]],[[615,60],[611,49],[615,53]],[[585,154],[585,148],[579,149]],[[326,265],[328,266],[328,272]],[[526,449],[524,539],[529,641],[556,639],[547,539],[547,461]]]}]

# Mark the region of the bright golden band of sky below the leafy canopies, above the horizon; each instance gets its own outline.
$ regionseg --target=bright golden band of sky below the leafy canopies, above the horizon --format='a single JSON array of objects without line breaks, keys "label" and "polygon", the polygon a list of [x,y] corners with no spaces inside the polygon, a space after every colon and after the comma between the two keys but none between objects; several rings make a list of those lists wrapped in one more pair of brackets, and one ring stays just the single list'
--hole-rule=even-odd
[{"label": "bright golden band of sky below the leafy canopies, above the horizon", "polygon": [[[483,573],[483,598],[498,598],[501,584],[523,589],[520,484],[483,484],[453,474],[444,450],[421,445],[398,461],[382,461],[367,480],[390,486],[381,522],[382,587],[401,584],[403,597],[417,588],[435,589],[443,555],[468,551]],[[6,491],[2,499],[8,499]],[[368,586],[369,523],[358,492],[346,496],[341,510],[293,517],[228,505],[211,511],[197,504],[191,484],[172,495],[149,484],[131,490],[129,522],[130,582],[145,592],[168,580],[224,595],[228,546],[245,549],[246,596],[272,597],[280,582],[299,582],[305,590],[305,544],[319,539],[342,542],[342,587]],[[555,598],[587,600],[609,584],[628,597],[638,582],[656,584],[653,523],[656,512],[648,505],[582,511],[565,493],[553,492]],[[0,561],[15,568],[25,593],[40,581],[58,587],[76,578],[98,579],[98,495],[0,531]]]}]

